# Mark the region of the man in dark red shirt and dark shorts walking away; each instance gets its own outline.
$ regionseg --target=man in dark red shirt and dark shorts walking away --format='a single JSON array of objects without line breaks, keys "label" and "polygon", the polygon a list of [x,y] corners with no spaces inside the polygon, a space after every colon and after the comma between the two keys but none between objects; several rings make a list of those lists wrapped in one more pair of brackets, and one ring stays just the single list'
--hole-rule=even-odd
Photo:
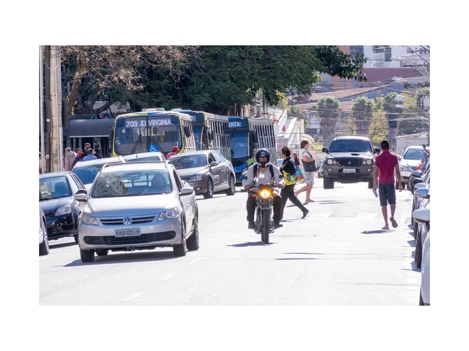
[{"label": "man in dark red shirt and dark shorts walking away", "polygon": [[[389,229],[387,224],[387,204],[391,206],[391,221],[392,227],[397,228],[397,222],[394,219],[394,212],[396,211],[396,184],[394,180],[394,170],[396,171],[397,180],[399,183],[399,191],[402,191],[401,173],[399,172],[399,161],[396,155],[389,152],[389,141],[384,139],[381,142],[380,155],[375,159],[375,173],[373,176],[373,192],[376,192],[377,184],[380,194],[381,212],[384,217],[383,229]],[[379,178],[379,180],[378,180]]]}]

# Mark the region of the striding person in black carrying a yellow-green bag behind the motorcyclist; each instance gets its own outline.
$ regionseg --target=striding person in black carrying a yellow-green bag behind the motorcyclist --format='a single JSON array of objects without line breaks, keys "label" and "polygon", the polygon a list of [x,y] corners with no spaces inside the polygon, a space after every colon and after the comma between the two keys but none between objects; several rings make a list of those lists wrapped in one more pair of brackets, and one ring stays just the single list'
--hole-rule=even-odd
[{"label": "striding person in black carrying a yellow-green bag behind the motorcyclist", "polygon": [[301,201],[298,200],[294,192],[295,184],[303,179],[303,175],[301,170],[295,167],[295,163],[290,157],[291,154],[292,151],[288,146],[282,147],[283,164],[280,166],[280,171],[283,172],[283,179],[285,180],[285,186],[280,191],[280,197],[282,198],[282,218],[287,199],[290,199],[290,201],[301,210],[303,213],[301,218],[305,218],[309,211],[301,204]]}]

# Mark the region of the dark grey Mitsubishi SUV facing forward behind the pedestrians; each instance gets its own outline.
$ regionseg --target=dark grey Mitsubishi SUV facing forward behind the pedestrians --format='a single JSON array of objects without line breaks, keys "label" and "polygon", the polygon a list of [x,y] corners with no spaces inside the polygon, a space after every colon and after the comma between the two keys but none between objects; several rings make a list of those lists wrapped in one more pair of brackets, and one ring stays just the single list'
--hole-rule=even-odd
[{"label": "dark grey Mitsubishi SUV facing forward behind the pedestrians", "polygon": [[367,136],[340,136],[332,140],[324,162],[324,189],[334,189],[334,182],[368,182],[373,188],[375,155],[380,149],[373,150]]}]

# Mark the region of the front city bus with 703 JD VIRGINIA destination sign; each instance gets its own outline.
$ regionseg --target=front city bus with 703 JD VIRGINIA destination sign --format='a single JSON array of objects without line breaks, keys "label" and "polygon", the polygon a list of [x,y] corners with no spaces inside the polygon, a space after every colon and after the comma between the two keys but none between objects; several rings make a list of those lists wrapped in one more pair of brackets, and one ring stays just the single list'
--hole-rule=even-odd
[{"label": "front city bus with 703 JD VIRGINIA destination sign", "polygon": [[116,117],[109,140],[112,156],[159,151],[166,157],[174,146],[195,151],[191,116],[159,108]]}]

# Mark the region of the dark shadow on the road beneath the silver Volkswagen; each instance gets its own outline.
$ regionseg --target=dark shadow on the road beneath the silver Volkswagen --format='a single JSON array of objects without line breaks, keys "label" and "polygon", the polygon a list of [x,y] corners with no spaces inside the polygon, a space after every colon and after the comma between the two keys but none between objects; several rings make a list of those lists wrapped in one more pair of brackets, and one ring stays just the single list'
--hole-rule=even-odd
[{"label": "dark shadow on the road beneath the silver Volkswagen", "polygon": [[163,261],[168,259],[177,259],[172,251],[165,252],[146,252],[146,253],[125,253],[125,254],[108,254],[107,256],[96,256],[94,262],[83,263],[78,259],[64,266],[55,267],[80,267],[89,265],[116,264],[125,262],[151,262]]}]

